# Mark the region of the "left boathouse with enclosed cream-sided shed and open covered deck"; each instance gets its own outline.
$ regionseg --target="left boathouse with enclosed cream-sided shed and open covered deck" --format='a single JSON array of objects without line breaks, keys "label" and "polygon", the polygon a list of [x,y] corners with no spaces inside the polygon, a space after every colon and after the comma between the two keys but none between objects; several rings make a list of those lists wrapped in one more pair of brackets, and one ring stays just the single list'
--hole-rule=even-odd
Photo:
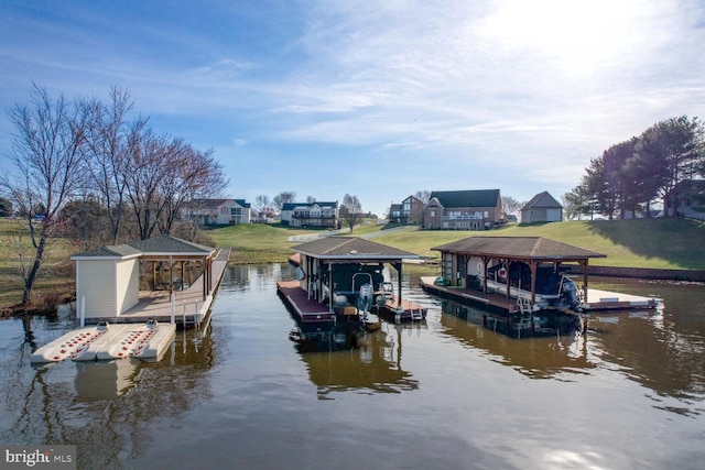
[{"label": "left boathouse with enclosed cream-sided shed and open covered deck", "polygon": [[[76,298],[84,303],[85,319],[119,318],[140,302],[140,277],[150,263],[149,291],[182,289],[184,263],[197,262],[203,275],[203,300],[214,288],[215,249],[174,237],[156,237],[120,245],[107,245],[70,256],[76,262]],[[169,273],[159,280],[156,267]],[[177,270],[177,266],[181,271]],[[175,272],[178,276],[175,277]]]}]

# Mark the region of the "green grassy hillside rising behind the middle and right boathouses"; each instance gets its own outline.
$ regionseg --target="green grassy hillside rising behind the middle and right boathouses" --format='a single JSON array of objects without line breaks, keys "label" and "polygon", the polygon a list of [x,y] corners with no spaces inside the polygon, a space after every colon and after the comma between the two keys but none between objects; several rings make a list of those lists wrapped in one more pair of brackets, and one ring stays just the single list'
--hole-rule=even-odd
[{"label": "green grassy hillside rising behind the middle and right boathouses", "polygon": [[[379,230],[365,226],[352,233],[360,236]],[[231,260],[238,263],[284,261],[293,234],[311,233],[278,226],[232,226],[208,232],[218,245],[235,248]],[[595,265],[705,270],[705,222],[690,219],[599,220],[511,225],[499,230],[444,231],[417,230],[413,227],[381,232],[373,240],[423,256],[437,258],[434,247],[467,237],[546,237],[606,254],[590,261]]]}]

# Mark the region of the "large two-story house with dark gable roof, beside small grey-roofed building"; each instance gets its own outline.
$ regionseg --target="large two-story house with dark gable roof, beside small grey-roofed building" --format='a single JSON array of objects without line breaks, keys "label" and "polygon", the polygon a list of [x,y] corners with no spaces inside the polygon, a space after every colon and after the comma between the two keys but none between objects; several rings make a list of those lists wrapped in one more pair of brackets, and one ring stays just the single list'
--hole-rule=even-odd
[{"label": "large two-story house with dark gable roof, beside small grey-roofed building", "polygon": [[431,230],[488,230],[502,220],[499,189],[438,190],[423,210],[423,227]]}]

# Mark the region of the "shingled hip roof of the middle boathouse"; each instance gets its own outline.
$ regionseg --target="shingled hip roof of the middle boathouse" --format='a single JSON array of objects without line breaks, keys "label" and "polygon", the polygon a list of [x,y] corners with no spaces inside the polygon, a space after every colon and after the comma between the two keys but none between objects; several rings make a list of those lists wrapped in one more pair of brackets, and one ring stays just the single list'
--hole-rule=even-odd
[{"label": "shingled hip roof of the middle boathouse", "polygon": [[417,259],[415,253],[376,243],[359,237],[327,237],[292,247],[311,258],[328,261],[393,261]]}]

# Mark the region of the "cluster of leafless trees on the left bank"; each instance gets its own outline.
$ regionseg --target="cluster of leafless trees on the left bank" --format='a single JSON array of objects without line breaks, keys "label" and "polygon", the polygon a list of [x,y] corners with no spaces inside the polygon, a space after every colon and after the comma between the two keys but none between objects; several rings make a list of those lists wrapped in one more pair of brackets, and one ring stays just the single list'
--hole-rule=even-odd
[{"label": "cluster of leafless trees on the left bank", "polygon": [[0,188],[4,205],[25,222],[32,247],[30,254],[25,243],[17,247],[22,305],[57,234],[73,236],[83,248],[176,230],[193,240],[194,227],[177,223],[181,208],[227,187],[212,150],[155,132],[133,108],[130,92],[118,87],[104,102],[52,98],[33,85],[29,100],[8,111],[14,172],[0,175]]}]

